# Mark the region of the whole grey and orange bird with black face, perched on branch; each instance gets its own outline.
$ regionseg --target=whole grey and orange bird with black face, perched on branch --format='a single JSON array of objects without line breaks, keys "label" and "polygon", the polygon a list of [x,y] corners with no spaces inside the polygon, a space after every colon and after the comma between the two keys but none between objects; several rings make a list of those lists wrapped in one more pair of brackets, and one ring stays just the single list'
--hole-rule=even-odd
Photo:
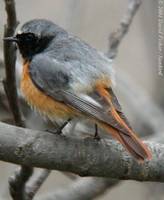
[{"label": "whole grey and orange bird with black face, perched on branch", "polygon": [[4,40],[16,42],[23,57],[21,91],[32,107],[50,119],[89,119],[138,161],[151,159],[112,90],[113,69],[104,54],[45,19],[25,23]]}]

